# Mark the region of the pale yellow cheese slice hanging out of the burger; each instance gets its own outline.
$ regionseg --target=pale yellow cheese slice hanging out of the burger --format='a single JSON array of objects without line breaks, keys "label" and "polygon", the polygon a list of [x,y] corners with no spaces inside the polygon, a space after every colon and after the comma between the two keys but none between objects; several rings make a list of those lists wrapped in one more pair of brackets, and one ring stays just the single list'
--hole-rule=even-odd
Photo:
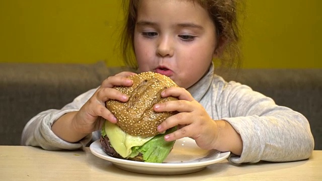
[{"label": "pale yellow cheese slice hanging out of the burger", "polygon": [[109,121],[105,122],[105,132],[110,139],[111,146],[118,152],[123,158],[126,158],[132,153],[133,146],[142,146],[149,141],[152,137],[142,138],[141,136],[132,136],[124,132],[116,124]]}]

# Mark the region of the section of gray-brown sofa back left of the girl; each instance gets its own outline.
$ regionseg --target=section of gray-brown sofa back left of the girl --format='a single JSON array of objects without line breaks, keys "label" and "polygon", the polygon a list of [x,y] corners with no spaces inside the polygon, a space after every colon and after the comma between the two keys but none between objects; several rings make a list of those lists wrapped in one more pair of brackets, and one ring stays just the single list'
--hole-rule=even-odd
[{"label": "section of gray-brown sofa back left of the girl", "polygon": [[20,145],[25,124],[38,113],[61,109],[126,68],[96,64],[2,63],[0,65],[0,145]]}]

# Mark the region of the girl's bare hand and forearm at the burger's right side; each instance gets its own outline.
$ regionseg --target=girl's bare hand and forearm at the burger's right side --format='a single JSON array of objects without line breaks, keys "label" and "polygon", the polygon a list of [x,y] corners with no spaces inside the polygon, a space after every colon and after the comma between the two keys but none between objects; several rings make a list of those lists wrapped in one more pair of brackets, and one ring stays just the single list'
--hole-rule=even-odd
[{"label": "girl's bare hand and forearm at the burger's right side", "polygon": [[154,111],[179,113],[161,123],[157,130],[164,132],[178,126],[178,130],[165,136],[165,140],[173,141],[183,137],[194,139],[202,149],[231,151],[240,155],[243,142],[234,128],[224,120],[214,121],[203,106],[190,93],[180,87],[170,87],[161,93],[162,97],[178,97],[178,101],[169,101],[153,106]]}]

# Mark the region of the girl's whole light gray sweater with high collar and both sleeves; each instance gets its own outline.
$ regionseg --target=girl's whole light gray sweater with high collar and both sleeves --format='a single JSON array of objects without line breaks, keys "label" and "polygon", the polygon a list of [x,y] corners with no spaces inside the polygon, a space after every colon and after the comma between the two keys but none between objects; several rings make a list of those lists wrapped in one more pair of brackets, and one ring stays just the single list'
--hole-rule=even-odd
[{"label": "girl's whole light gray sweater with high collar and both sleeves", "polygon": [[[307,119],[249,86],[230,81],[209,72],[188,91],[213,120],[226,120],[240,134],[243,152],[231,155],[233,163],[293,161],[308,158],[314,148],[313,136]],[[79,149],[100,138],[93,132],[79,143],[69,143],[51,131],[51,125],[62,115],[78,111],[96,89],[78,96],[61,110],[47,110],[32,118],[22,134],[22,145],[40,146],[47,150]]]}]

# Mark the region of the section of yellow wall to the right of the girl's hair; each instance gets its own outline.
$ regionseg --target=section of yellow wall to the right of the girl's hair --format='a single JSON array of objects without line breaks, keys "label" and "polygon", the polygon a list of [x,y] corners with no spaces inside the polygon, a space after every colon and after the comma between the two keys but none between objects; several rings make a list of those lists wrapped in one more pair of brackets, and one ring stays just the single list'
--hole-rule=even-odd
[{"label": "section of yellow wall to the right of the girl's hair", "polygon": [[322,68],[322,1],[246,2],[244,67]]}]

